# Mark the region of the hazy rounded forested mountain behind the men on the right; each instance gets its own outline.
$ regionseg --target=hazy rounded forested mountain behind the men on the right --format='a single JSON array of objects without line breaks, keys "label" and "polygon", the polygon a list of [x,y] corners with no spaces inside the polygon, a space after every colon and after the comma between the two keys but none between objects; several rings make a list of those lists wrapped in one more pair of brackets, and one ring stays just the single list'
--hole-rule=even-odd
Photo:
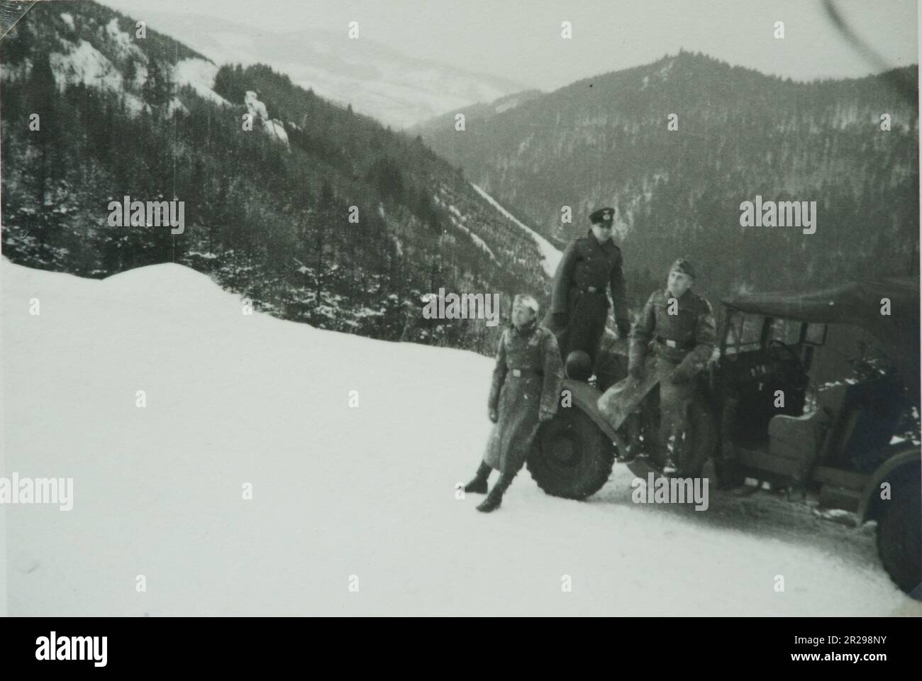
[{"label": "hazy rounded forested mountain behind the men on the right", "polygon": [[[713,296],[795,290],[917,271],[918,108],[896,79],[915,88],[917,66],[800,83],[681,52],[473,115],[464,131],[452,115],[419,129],[559,244],[592,209],[618,207],[633,305],[680,255]],[[740,226],[757,196],[816,201],[816,232]]]}]

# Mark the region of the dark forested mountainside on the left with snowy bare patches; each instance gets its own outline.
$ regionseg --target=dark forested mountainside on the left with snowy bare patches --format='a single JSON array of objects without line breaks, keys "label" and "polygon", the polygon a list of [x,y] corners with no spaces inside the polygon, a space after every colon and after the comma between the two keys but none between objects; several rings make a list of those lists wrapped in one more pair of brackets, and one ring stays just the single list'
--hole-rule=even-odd
[{"label": "dark forested mountainside on the left with snowy bare patches", "polygon": [[[178,262],[278,317],[480,352],[499,329],[424,320],[421,296],[502,293],[505,309],[546,293],[530,236],[420,138],[136,31],[92,2],[42,2],[0,42],[12,261],[83,277]],[[125,196],[182,200],[183,233],[111,226]]]}]

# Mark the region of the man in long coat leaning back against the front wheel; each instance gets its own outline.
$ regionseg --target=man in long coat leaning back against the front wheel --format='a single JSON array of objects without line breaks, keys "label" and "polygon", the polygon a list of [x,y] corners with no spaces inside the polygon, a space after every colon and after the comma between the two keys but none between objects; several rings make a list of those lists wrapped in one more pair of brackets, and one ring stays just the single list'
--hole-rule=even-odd
[{"label": "man in long coat leaning back against the front wheel", "polygon": [[512,324],[502,331],[493,369],[488,409],[495,425],[477,474],[464,488],[486,494],[491,471],[500,472],[479,511],[489,513],[500,506],[502,495],[525,465],[538,425],[557,413],[562,387],[560,349],[554,334],[538,324],[538,301],[516,295]]}]

